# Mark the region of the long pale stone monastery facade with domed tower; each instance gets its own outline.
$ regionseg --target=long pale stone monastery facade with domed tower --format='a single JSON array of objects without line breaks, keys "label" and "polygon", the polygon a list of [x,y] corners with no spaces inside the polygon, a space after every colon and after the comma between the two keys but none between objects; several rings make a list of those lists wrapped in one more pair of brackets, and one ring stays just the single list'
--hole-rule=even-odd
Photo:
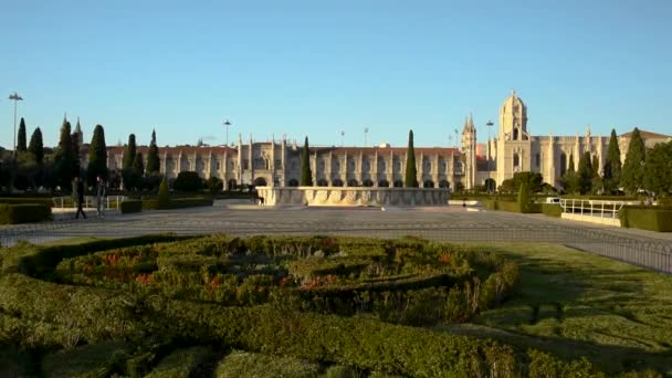
[{"label": "long pale stone monastery facade with domed tower", "polygon": [[[81,133],[81,132],[80,132]],[[641,132],[651,147],[671,137]],[[630,133],[619,136],[624,160]],[[594,136],[590,126],[582,136],[533,136],[527,128],[527,106],[515,91],[500,108],[500,125],[494,137],[477,144],[473,117],[464,120],[460,149],[416,147],[418,182],[421,188],[466,189],[485,185],[491,178],[498,186],[518,171],[539,172],[544,181],[557,186],[574,156],[575,168],[585,151],[605,165],[609,136]],[[86,146],[84,146],[86,148]],[[147,159],[147,147],[138,147]],[[222,179],[227,188],[241,185],[294,187],[301,177],[301,146],[288,140],[253,141],[235,147],[175,146],[159,147],[160,172],[169,179],[180,171],[197,171],[201,177]],[[124,147],[108,147],[109,169],[120,169]],[[82,154],[83,167],[86,154]],[[400,187],[406,171],[406,146],[390,147],[312,147],[313,182],[321,187]]]}]

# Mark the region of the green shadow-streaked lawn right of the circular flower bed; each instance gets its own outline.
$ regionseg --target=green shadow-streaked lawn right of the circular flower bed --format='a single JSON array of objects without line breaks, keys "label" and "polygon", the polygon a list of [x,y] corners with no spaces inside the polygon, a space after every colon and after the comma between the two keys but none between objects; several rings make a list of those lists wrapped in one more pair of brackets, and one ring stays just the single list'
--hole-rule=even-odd
[{"label": "green shadow-streaked lawn right of the circular flower bed", "polygon": [[515,259],[517,293],[460,334],[588,357],[607,371],[651,367],[672,375],[672,276],[558,244],[476,244]]}]

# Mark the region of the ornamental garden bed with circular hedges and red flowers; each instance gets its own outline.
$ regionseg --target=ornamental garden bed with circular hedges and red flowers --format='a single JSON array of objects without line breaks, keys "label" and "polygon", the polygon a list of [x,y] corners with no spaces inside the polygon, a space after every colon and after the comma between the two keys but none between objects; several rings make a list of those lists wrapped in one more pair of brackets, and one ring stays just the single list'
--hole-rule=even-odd
[{"label": "ornamental garden bed with circular hedges and red flowers", "polygon": [[516,301],[518,262],[483,248],[156,235],[19,244],[1,263],[0,369],[19,375],[600,374],[585,358],[445,330]]}]

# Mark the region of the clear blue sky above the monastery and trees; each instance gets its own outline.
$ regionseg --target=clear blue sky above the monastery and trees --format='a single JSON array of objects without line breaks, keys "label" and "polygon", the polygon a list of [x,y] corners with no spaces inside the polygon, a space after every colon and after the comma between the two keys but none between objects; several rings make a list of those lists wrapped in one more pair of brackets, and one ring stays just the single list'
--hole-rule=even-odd
[{"label": "clear blue sky above the monastery and trees", "polygon": [[[672,1],[0,0],[0,145],[63,114],[108,145],[479,139],[512,88],[533,135],[672,134]],[[493,130],[494,132],[494,130]],[[454,140],[452,140],[454,144]]]}]

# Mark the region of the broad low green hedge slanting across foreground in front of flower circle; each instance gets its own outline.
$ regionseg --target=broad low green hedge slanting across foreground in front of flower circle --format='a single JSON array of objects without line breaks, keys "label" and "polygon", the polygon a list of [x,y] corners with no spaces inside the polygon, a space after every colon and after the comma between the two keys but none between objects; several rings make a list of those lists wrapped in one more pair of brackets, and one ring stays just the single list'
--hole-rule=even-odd
[{"label": "broad low green hedge slanting across foreground in front of flower circle", "polygon": [[[222,307],[143,297],[128,292],[42,282],[19,274],[0,277],[0,309],[21,318],[0,322],[0,332],[33,347],[108,339],[177,337],[200,344],[351,365],[412,377],[510,377],[553,364],[575,376],[591,376],[587,360],[565,363],[545,355],[430,329],[391,325],[369,317],[301,313],[282,306]],[[44,343],[48,343],[44,345]],[[539,367],[539,364],[544,364]],[[539,370],[544,371],[544,370]]]}]

